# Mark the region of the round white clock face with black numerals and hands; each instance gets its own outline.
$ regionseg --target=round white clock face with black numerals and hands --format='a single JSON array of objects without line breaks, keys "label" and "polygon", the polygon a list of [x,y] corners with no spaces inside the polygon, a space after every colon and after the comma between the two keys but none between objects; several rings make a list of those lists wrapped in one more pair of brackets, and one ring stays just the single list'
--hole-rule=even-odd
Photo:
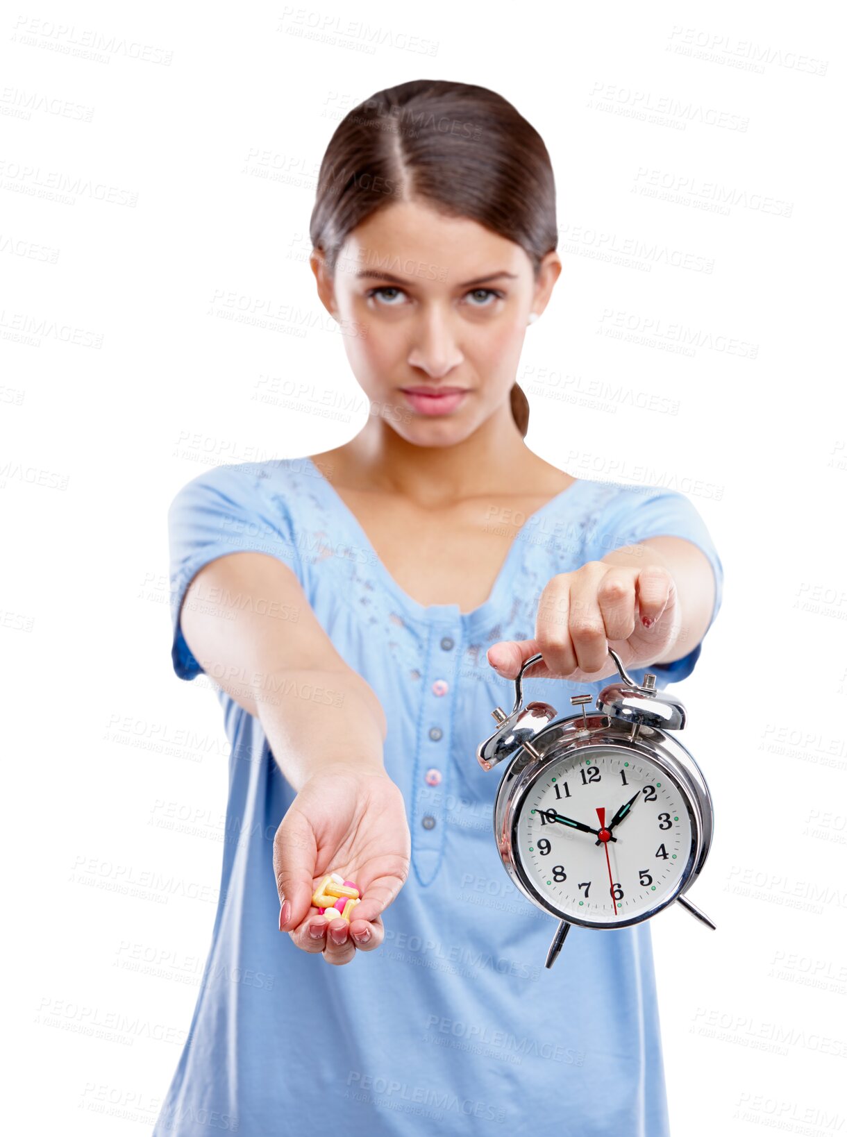
[{"label": "round white clock face with black numerals and hands", "polygon": [[563,915],[614,926],[667,901],[691,841],[687,798],[661,766],[624,747],[581,747],[524,795],[514,855]]}]

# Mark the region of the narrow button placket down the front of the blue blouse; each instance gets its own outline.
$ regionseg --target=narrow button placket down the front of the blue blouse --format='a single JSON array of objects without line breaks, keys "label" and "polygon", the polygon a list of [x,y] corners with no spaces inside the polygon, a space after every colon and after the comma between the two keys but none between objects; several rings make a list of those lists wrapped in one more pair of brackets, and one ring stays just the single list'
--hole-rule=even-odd
[{"label": "narrow button placket down the front of the blue blouse", "polygon": [[415,763],[412,860],[422,885],[432,883],[441,861],[449,769],[450,723],[455,695],[455,672],[460,637],[457,626],[447,634],[433,629],[424,674],[423,722]]}]

